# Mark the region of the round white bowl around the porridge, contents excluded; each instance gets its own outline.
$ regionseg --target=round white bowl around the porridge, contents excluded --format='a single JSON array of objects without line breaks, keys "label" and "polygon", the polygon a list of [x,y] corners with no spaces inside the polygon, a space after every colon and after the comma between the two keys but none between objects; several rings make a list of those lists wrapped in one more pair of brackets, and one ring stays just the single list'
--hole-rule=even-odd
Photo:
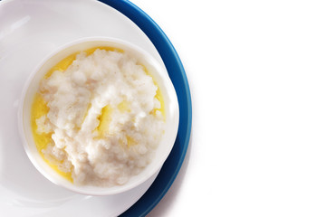
[{"label": "round white bowl around the porridge, contents excluded", "polygon": [[[139,175],[131,177],[128,183],[113,187],[75,185],[63,178],[61,175],[57,174],[57,172],[55,172],[50,165],[44,162],[43,157],[39,154],[34,143],[31,127],[31,107],[34,95],[39,88],[40,80],[43,79],[46,72],[49,71],[57,62],[62,61],[62,59],[71,55],[72,53],[82,52],[98,46],[120,48],[126,52],[131,52],[136,55],[139,62],[143,63],[143,65],[150,71],[150,74],[158,82],[159,89],[161,90],[164,98],[166,112],[166,129],[156,150],[156,156]],[[45,58],[38,67],[36,67],[24,86],[18,111],[18,125],[27,156],[30,158],[37,170],[47,179],[53,182],[53,184],[58,184],[76,193],[89,195],[109,195],[126,192],[139,184],[144,183],[152,175],[155,175],[158,172],[165,160],[168,158],[177,137],[178,116],[179,110],[177,94],[171,80],[169,80],[168,72],[164,67],[162,67],[147,52],[144,52],[142,49],[130,44],[129,42],[123,42],[121,40],[112,38],[97,37],[84,38],[68,43],[62,46],[56,52],[53,52],[50,56]]]}]

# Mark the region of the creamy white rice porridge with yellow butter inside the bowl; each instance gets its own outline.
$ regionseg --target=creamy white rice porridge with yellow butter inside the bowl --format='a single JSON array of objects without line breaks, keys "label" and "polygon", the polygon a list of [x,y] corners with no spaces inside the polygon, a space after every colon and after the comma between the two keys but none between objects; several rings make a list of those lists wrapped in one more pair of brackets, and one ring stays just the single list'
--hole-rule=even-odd
[{"label": "creamy white rice porridge with yellow butter inside the bowl", "polygon": [[164,134],[164,103],[128,52],[94,48],[67,57],[41,80],[32,106],[43,159],[74,184],[125,184],[151,161]]}]

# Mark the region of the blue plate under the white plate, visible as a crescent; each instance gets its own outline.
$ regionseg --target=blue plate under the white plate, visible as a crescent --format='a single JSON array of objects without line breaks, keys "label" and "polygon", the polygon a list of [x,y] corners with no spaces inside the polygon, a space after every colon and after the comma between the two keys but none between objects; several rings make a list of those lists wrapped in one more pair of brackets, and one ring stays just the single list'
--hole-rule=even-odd
[{"label": "blue plate under the white plate, visible as a crescent", "polygon": [[167,161],[160,170],[155,182],[149,190],[139,199],[137,203],[123,212],[120,216],[145,216],[148,214],[168,192],[169,187],[177,177],[177,173],[187,153],[191,132],[191,98],[187,83],[186,72],[177,56],[168,37],[158,27],[148,14],[145,14],[139,7],[127,0],[101,0],[102,3],[110,5],[120,13],[125,14],[131,21],[147,34],[150,41],[158,50],[168,70],[168,75],[177,91],[177,99],[180,109],[179,127],[176,143],[168,156]]}]

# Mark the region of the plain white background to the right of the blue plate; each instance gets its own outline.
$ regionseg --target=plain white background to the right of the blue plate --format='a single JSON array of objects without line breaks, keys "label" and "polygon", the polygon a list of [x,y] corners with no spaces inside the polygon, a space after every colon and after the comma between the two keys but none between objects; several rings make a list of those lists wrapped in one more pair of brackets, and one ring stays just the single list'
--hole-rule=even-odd
[{"label": "plain white background to the right of the blue plate", "polygon": [[149,216],[326,215],[323,1],[132,0],[187,71],[187,158]]}]

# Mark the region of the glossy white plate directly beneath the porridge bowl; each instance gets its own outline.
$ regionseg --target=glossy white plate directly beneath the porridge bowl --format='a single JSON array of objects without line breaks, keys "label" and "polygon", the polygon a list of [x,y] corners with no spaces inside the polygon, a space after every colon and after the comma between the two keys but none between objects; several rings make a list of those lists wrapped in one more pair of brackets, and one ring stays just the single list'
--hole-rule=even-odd
[{"label": "glossy white plate directly beneath the porridge bowl", "polygon": [[5,216],[115,216],[135,203],[150,184],[106,197],[71,193],[34,168],[17,130],[18,99],[30,72],[58,46],[87,36],[132,42],[164,67],[149,38],[120,12],[94,0],[0,2],[0,211]]}]

